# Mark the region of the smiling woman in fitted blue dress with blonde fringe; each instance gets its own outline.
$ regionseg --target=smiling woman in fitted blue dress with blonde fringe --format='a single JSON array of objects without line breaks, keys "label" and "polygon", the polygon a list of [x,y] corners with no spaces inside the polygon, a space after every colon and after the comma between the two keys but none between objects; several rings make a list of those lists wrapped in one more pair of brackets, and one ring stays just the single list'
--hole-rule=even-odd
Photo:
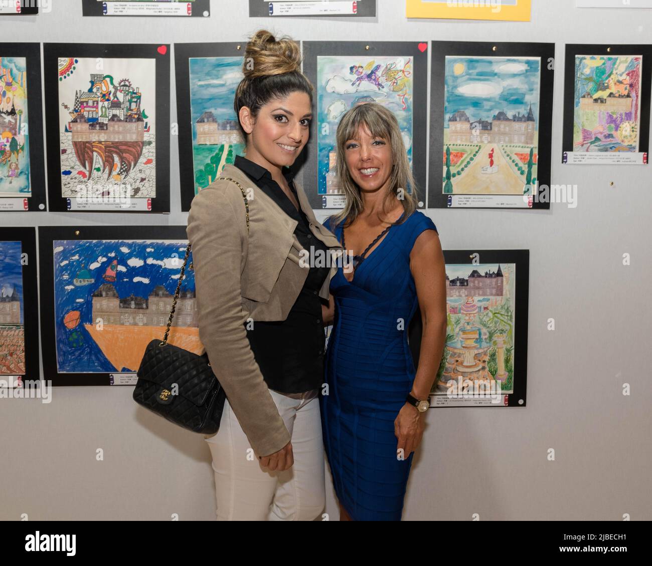
[{"label": "smiling woman in fitted blue dress with blonde fringe", "polygon": [[[376,103],[355,106],[336,139],[346,206],[324,225],[347,255],[323,307],[325,324],[333,324],[320,396],[324,446],[340,520],[400,520],[443,352],[445,264],[434,223],[417,210],[393,113]],[[423,331],[415,369],[407,332],[417,305]]]}]

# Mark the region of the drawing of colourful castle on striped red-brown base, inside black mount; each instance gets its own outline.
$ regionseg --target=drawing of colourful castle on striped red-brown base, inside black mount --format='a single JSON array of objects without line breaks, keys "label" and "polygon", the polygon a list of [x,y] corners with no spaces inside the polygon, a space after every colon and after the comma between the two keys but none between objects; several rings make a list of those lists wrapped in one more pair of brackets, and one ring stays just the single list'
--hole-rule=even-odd
[{"label": "drawing of colourful castle on striped red-brown base, inside black mount", "polygon": [[156,63],[59,58],[61,196],[156,197]]}]

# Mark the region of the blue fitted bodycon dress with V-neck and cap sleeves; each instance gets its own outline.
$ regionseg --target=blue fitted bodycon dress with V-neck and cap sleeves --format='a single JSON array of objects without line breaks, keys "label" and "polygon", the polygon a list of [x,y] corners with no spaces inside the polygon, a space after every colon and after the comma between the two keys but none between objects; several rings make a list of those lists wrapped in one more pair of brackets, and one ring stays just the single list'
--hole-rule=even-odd
[{"label": "blue fitted bodycon dress with V-neck and cap sleeves", "polygon": [[[342,241],[342,224],[324,225]],[[355,270],[331,279],[333,330],[320,395],[326,455],[338,500],[353,520],[400,520],[413,453],[396,457],[394,419],[415,378],[408,326],[417,310],[409,254],[424,230],[437,230],[415,210],[392,226]]]}]

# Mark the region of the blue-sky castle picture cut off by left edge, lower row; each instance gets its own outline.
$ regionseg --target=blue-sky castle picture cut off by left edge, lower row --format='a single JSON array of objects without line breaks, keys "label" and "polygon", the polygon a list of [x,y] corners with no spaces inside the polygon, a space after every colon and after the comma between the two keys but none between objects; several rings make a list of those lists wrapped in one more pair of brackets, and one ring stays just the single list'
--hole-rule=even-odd
[{"label": "blue-sky castle picture cut off by left edge, lower row", "polygon": [[22,242],[0,241],[0,380],[25,375],[24,300]]}]

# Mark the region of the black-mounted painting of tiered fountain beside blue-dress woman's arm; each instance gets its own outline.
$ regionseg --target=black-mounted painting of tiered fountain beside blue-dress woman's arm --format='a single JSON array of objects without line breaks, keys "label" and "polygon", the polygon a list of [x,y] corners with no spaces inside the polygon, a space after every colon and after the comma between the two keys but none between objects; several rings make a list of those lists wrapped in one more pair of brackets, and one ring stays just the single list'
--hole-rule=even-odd
[{"label": "black-mounted painting of tiered fountain beside blue-dress woman's arm", "polygon": [[[526,406],[529,251],[445,250],[446,337],[430,406]],[[408,327],[419,366],[423,324]]]}]

